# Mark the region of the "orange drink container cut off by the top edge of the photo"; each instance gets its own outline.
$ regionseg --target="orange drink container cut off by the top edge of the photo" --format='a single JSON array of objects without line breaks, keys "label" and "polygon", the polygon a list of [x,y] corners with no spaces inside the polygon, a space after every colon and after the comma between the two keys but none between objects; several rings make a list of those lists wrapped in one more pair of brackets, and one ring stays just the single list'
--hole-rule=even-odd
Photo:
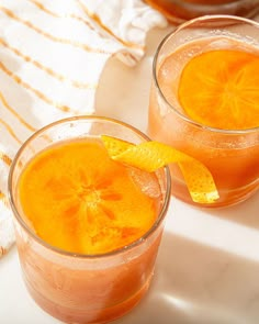
[{"label": "orange drink container cut off by the top edge of the photo", "polygon": [[171,22],[182,23],[205,14],[233,14],[252,18],[259,12],[258,0],[146,0]]}]

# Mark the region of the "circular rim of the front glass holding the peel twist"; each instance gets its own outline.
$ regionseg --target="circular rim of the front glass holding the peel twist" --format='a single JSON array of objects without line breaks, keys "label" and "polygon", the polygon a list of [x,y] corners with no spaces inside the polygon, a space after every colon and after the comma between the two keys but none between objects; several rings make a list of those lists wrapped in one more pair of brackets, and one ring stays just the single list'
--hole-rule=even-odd
[{"label": "circular rim of the front glass holding the peel twist", "polygon": [[16,203],[15,203],[15,190],[13,190],[13,186],[12,186],[12,180],[13,180],[13,172],[14,169],[16,167],[18,160],[20,158],[20,156],[22,155],[23,150],[25,149],[25,147],[27,147],[27,145],[34,139],[36,138],[38,135],[41,135],[42,133],[44,133],[45,131],[47,131],[48,129],[53,129],[56,125],[59,124],[64,124],[64,123],[69,123],[69,122],[76,122],[76,121],[106,121],[109,123],[115,123],[117,125],[121,125],[123,127],[126,127],[131,131],[133,131],[136,135],[138,135],[139,137],[142,137],[145,141],[151,141],[145,133],[143,133],[142,131],[137,130],[136,127],[132,126],[131,124],[127,124],[125,122],[119,121],[116,119],[112,119],[112,118],[105,118],[105,116],[99,116],[99,115],[80,115],[80,116],[71,116],[71,118],[66,118],[66,119],[61,119],[58,121],[55,121],[53,123],[47,124],[46,126],[41,127],[40,130],[37,130],[36,132],[34,132],[23,144],[22,146],[19,148],[18,153],[15,154],[13,161],[11,164],[10,167],[10,171],[9,171],[9,177],[8,177],[8,198],[9,198],[9,202],[10,202],[10,206],[11,210],[13,212],[13,215],[15,217],[15,220],[18,221],[18,223],[23,227],[23,230],[31,236],[33,237],[34,241],[37,242],[37,244],[40,244],[41,246],[43,246],[44,248],[52,250],[58,255],[65,256],[65,257],[71,257],[71,258],[80,258],[80,259],[101,259],[101,258],[105,258],[105,257],[111,257],[111,256],[116,256],[120,255],[124,252],[131,250],[132,248],[140,245],[144,241],[146,241],[149,236],[153,235],[153,233],[156,232],[156,230],[159,227],[159,225],[162,223],[166,213],[168,211],[169,208],[169,202],[170,202],[170,193],[171,193],[171,177],[170,177],[170,171],[169,171],[169,167],[166,166],[164,167],[165,170],[165,178],[166,178],[166,192],[165,192],[165,197],[164,197],[164,202],[162,202],[162,206],[159,210],[158,216],[156,219],[156,222],[151,225],[151,227],[144,233],[144,235],[142,235],[139,238],[133,241],[131,244],[125,245],[123,247],[116,248],[114,250],[108,252],[108,253],[102,253],[102,254],[82,254],[82,253],[72,253],[72,252],[67,252],[65,249],[61,249],[59,247],[53,246],[49,243],[45,242],[44,239],[42,239],[40,236],[36,235],[35,232],[33,232],[33,230],[27,225],[27,223],[23,220],[23,217],[21,216],[18,208],[16,208]]}]

